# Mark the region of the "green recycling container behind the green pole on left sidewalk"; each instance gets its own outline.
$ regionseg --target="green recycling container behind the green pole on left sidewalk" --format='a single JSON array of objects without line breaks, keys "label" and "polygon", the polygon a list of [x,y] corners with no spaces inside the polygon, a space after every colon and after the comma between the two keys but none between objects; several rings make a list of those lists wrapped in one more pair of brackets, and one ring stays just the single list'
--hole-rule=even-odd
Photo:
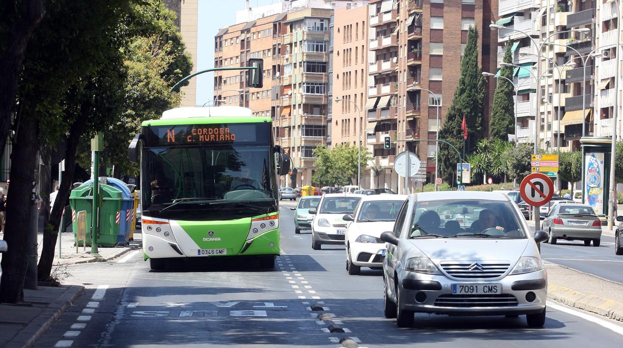
[{"label": "green recycling container behind the green pole on left sidewalk", "polygon": [[[110,185],[100,184],[100,219],[97,245],[114,247],[118,243],[119,222],[123,192]],[[72,208],[72,227],[74,229],[74,241],[82,247],[84,243],[91,245],[92,240],[92,212],[93,212],[93,184],[87,184],[72,190],[69,197]],[[87,212],[87,233],[85,240],[78,240],[78,212]]]}]

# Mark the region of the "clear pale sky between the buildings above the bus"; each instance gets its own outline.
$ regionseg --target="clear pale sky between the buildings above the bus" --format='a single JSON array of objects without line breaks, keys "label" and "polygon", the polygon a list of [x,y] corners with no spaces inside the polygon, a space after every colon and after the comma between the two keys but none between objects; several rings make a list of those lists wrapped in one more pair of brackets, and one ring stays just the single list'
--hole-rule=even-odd
[{"label": "clear pale sky between the buildings above the bus", "polygon": [[[251,7],[276,3],[278,0],[250,0]],[[235,24],[235,11],[244,9],[244,0],[200,0],[197,33],[197,70],[214,65],[214,35],[221,27]],[[197,76],[197,105],[212,100],[214,75]]]}]

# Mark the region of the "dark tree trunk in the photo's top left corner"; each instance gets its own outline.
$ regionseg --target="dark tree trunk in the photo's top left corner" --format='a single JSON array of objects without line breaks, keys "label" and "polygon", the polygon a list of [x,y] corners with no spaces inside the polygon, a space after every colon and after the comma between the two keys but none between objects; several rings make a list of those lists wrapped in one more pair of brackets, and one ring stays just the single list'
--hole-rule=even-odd
[{"label": "dark tree trunk in the photo's top left corner", "polygon": [[4,18],[16,19],[7,30],[6,50],[0,54],[0,154],[4,153],[11,116],[16,105],[17,84],[24,54],[32,31],[44,15],[43,3],[44,0],[24,0],[17,9],[12,8],[15,6],[13,1],[2,1],[0,5]]}]

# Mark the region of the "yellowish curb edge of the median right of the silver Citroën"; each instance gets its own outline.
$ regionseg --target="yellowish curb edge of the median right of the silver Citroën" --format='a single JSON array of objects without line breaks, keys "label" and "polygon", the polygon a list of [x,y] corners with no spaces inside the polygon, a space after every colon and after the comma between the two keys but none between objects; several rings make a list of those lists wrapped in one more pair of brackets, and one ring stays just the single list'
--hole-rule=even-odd
[{"label": "yellowish curb edge of the median right of the silver Citro\u00ebn", "polygon": [[623,303],[594,295],[580,293],[561,285],[548,284],[548,298],[569,307],[583,309],[591,313],[623,322]]}]

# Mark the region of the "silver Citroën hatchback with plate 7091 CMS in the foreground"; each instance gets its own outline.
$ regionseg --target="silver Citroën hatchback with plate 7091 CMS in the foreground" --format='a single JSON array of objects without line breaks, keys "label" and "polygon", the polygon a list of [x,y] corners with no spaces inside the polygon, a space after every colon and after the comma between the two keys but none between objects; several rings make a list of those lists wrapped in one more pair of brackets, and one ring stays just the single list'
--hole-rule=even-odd
[{"label": "silver Citro\u00ebn hatchback with plate 7091 CMS in the foreground", "polygon": [[[422,212],[422,210],[424,210]],[[461,227],[453,213],[478,211]],[[442,217],[444,217],[442,219]],[[526,314],[545,324],[547,273],[528,225],[508,196],[495,192],[423,192],[402,205],[394,229],[383,232],[384,314],[398,326],[414,313]]]}]

